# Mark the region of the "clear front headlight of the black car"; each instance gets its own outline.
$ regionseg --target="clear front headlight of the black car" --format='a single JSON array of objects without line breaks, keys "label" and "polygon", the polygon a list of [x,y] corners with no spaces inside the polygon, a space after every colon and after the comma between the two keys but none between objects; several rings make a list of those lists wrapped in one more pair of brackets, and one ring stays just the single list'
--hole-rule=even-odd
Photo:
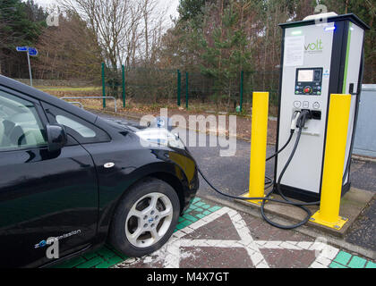
[{"label": "clear front headlight of the black car", "polygon": [[144,146],[145,143],[147,144],[147,146],[145,147],[150,147],[153,145],[164,145],[167,147],[175,147],[179,149],[185,148],[182,140],[179,139],[179,137],[175,134],[167,131],[166,129],[146,129],[135,132],[135,134],[143,140],[143,142],[141,142],[142,146]]}]

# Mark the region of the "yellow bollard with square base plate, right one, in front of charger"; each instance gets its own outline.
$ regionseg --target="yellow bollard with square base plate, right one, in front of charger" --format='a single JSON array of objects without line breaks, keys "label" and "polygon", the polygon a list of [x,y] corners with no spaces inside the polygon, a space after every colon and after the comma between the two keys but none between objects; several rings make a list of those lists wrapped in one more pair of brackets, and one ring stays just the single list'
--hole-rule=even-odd
[{"label": "yellow bollard with square base plate, right one, in front of charger", "polygon": [[311,218],[314,223],[336,230],[340,230],[347,222],[347,219],[339,216],[339,206],[346,157],[350,104],[350,95],[331,95],[330,97],[320,210],[313,214]]}]

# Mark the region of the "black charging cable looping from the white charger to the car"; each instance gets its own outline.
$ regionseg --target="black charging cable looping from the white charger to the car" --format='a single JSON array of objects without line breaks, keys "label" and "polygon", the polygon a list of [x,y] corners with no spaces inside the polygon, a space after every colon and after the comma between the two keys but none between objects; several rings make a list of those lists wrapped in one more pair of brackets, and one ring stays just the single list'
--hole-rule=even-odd
[{"label": "black charging cable looping from the white charger to the car", "polygon": [[[299,116],[298,116],[299,115]],[[279,195],[284,198],[284,200],[278,200],[278,199],[274,199],[274,198],[270,198],[272,193],[274,192],[274,189],[272,189],[271,191],[269,191],[269,193],[265,196],[265,197],[261,197],[261,198],[247,198],[247,197],[238,197],[238,196],[233,196],[233,195],[229,195],[229,194],[226,194],[222,191],[220,191],[219,189],[217,189],[216,187],[214,187],[211,182],[205,177],[205,175],[201,172],[201,169],[200,167],[198,166],[197,169],[198,169],[198,172],[201,174],[201,177],[204,181],[206,181],[209,185],[209,187],[211,189],[214,189],[216,192],[218,192],[218,194],[222,195],[222,196],[225,196],[227,198],[234,198],[234,199],[239,199],[239,200],[261,200],[262,203],[261,203],[261,215],[262,217],[265,219],[265,221],[275,227],[278,227],[280,229],[284,229],[284,230],[291,230],[291,229],[295,229],[299,226],[302,226],[303,224],[307,223],[311,216],[312,216],[312,212],[306,207],[306,206],[313,206],[313,205],[317,205],[317,204],[320,204],[320,202],[312,202],[312,203],[298,203],[298,202],[293,202],[293,201],[290,201],[288,198],[286,198],[283,194],[283,192],[281,191],[280,189],[280,183],[282,181],[282,178],[289,166],[289,164],[291,163],[291,161],[293,160],[294,156],[295,156],[295,153],[296,153],[296,149],[297,147],[299,146],[299,142],[300,142],[300,139],[302,137],[302,132],[303,132],[303,128],[304,128],[304,125],[305,125],[305,122],[307,122],[307,120],[309,119],[309,111],[302,111],[302,113],[300,114],[295,114],[295,116],[297,117],[297,121],[296,121],[296,127],[299,129],[298,130],[298,133],[297,133],[297,138],[295,140],[295,146],[293,148],[293,151],[291,153],[291,155],[289,156],[286,164],[285,164],[285,167],[284,169],[282,170],[282,172],[280,173],[279,177],[278,177],[278,182],[277,182],[277,190],[278,190],[278,193]],[[295,130],[295,129],[294,129]],[[293,135],[295,133],[293,129],[291,130],[291,134],[290,134],[290,137],[289,139],[287,140],[286,144],[284,147],[282,147],[280,150],[278,150],[278,152],[273,155],[273,156],[270,156],[267,161],[269,161],[270,159],[274,158],[275,156],[278,156],[278,154],[280,154],[291,142],[291,140],[293,139]],[[185,147],[185,149],[188,151],[187,147]],[[269,189],[269,187],[271,187],[271,185],[274,184],[274,181],[271,180],[270,178],[267,177],[267,179],[269,180],[269,182],[267,182],[266,184],[269,184],[269,186],[266,186],[265,189]],[[270,184],[271,183],[271,184]],[[285,204],[285,205],[290,205],[290,206],[298,206],[300,208],[303,209],[304,212],[307,213],[307,216],[304,218],[304,220],[300,223],[296,223],[296,224],[292,224],[292,225],[282,225],[282,224],[278,224],[278,223],[274,223],[272,222],[265,214],[265,203],[266,202],[275,202],[275,203],[280,203],[280,204]]]}]

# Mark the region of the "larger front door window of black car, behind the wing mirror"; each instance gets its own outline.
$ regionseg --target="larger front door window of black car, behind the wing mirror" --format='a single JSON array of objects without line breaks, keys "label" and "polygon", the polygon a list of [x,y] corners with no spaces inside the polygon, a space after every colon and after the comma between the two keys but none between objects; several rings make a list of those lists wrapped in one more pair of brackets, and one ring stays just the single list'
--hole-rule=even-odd
[{"label": "larger front door window of black car, behind the wing mirror", "polygon": [[47,146],[35,105],[0,90],[0,151]]}]

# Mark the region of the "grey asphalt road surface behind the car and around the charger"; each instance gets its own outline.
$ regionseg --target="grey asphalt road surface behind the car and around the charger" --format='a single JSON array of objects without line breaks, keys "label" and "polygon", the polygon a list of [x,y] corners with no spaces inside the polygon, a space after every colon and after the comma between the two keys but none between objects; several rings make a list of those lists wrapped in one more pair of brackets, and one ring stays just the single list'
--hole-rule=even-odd
[{"label": "grey asphalt road surface behind the car and around the charger", "polygon": [[[105,118],[112,117],[107,114],[101,114],[101,116]],[[127,121],[134,122],[129,119]],[[234,196],[243,195],[248,191],[251,154],[251,144],[249,142],[236,139],[234,156],[220,156],[221,152],[226,148],[220,146],[209,147],[210,137],[208,135],[184,129],[175,129],[174,132],[179,133],[184,142],[190,142],[190,137],[192,142],[194,142],[194,138],[196,139],[196,144],[190,144],[189,150],[197,164],[199,164],[201,172],[205,174],[216,188]],[[206,141],[206,144],[204,144],[205,147],[192,147],[192,145],[199,146],[200,139],[201,142]],[[212,137],[211,139],[217,140],[218,138]],[[268,146],[268,156],[273,155],[274,152],[275,147]],[[353,160],[350,171],[353,187],[376,192],[376,163]],[[266,175],[273,177],[274,159],[266,164]],[[210,189],[204,180],[201,180],[200,184],[199,196],[213,196],[231,200],[231,198],[220,196],[214,190]],[[376,201],[364,210],[360,219],[348,233],[346,240],[364,248],[376,250],[375,223]]]}]

